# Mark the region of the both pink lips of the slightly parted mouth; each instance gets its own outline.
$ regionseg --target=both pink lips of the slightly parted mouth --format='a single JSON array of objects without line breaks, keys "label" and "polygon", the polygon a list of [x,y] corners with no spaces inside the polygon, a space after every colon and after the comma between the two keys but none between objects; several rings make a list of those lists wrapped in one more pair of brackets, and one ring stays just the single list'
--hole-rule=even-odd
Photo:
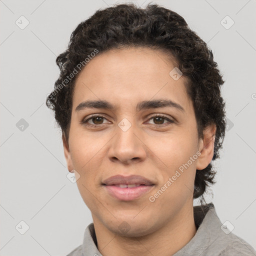
[{"label": "both pink lips of the slightly parted mouth", "polygon": [[[126,187],[122,188],[117,185],[119,184],[136,184],[135,187]],[[139,176],[139,175],[130,175],[122,176],[115,175],[105,179],[102,182],[102,185],[105,187],[106,191],[118,200],[130,201],[139,198],[143,194],[149,192],[154,186],[153,182],[149,179]]]}]

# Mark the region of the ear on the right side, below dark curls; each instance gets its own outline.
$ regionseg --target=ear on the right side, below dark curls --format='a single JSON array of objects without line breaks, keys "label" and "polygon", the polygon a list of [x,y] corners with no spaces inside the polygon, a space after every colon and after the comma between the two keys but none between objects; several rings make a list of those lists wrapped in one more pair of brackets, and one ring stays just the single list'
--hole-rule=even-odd
[{"label": "ear on the right side, below dark curls", "polygon": [[200,155],[197,158],[196,169],[201,170],[207,167],[214,153],[216,125],[210,124],[203,130],[203,138],[199,139]]}]

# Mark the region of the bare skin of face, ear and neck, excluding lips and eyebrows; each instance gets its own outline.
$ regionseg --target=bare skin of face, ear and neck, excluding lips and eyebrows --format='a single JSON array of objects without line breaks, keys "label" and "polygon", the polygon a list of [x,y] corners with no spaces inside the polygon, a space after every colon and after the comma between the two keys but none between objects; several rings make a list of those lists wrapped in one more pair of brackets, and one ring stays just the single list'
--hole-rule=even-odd
[{"label": "bare skin of face, ear and neck, excluding lips and eyebrows", "polygon": [[[196,232],[195,171],[212,159],[216,128],[214,124],[207,126],[204,138],[198,139],[192,101],[184,86],[186,78],[174,80],[169,75],[175,66],[160,50],[130,47],[96,55],[76,79],[68,141],[62,136],[64,155],[68,170],[80,175],[76,183],[91,211],[97,247],[104,256],[171,255]],[[115,108],[75,111],[82,101],[98,99]],[[174,107],[135,109],[139,101],[153,99],[171,99],[184,111]],[[91,114],[104,118],[80,123]],[[174,122],[152,118],[154,114]],[[131,124],[125,132],[117,125],[123,118]],[[88,125],[93,123],[97,126]],[[197,151],[197,159],[150,202],[148,197]],[[101,185],[102,180],[116,174],[138,174],[155,185],[135,200],[118,200]],[[119,229],[123,221],[130,228],[126,233]]]}]

